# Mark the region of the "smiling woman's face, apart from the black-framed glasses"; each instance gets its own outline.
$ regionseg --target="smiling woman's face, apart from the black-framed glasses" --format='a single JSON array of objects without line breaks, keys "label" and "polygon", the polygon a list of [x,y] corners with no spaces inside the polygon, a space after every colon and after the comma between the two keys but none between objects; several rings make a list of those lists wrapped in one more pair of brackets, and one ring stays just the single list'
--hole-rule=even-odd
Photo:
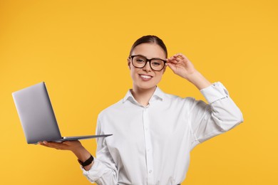
[{"label": "smiling woman's face, apart from the black-framed glasses", "polygon": [[[136,46],[131,53],[131,56],[145,56],[145,58],[161,58],[165,59],[166,55],[163,48],[155,43],[141,43]],[[131,63],[131,59],[128,59],[128,66],[130,68],[130,75],[133,79],[133,89],[151,89],[155,88],[160,82],[166,66],[163,70],[155,71],[150,68],[150,63],[147,63],[144,68],[135,68]]]}]

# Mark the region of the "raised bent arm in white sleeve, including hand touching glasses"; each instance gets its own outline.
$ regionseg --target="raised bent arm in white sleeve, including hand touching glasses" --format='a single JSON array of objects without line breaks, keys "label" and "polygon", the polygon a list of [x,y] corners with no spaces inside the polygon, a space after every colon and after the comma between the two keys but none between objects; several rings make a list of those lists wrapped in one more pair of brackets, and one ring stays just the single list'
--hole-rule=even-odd
[{"label": "raised bent arm in white sleeve, including hand touching glasses", "polygon": [[226,132],[243,121],[242,112],[222,83],[211,84],[181,53],[169,58],[167,64],[175,74],[195,85],[208,102],[207,105],[203,101],[188,99],[192,133],[197,142],[204,142]]}]

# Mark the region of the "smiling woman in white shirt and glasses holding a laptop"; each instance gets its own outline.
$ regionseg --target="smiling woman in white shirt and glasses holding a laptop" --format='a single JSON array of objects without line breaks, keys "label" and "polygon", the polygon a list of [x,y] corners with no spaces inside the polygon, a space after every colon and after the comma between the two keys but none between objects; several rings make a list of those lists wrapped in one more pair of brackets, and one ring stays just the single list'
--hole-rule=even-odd
[{"label": "smiling woman in white shirt and glasses holding a laptop", "polygon": [[[113,136],[97,139],[95,159],[78,141],[40,144],[71,150],[97,184],[180,184],[190,150],[243,119],[221,83],[211,84],[181,53],[167,55],[157,36],[135,41],[128,57],[133,88],[98,115],[96,134]],[[195,85],[208,104],[163,93],[157,85],[167,66]]]}]

